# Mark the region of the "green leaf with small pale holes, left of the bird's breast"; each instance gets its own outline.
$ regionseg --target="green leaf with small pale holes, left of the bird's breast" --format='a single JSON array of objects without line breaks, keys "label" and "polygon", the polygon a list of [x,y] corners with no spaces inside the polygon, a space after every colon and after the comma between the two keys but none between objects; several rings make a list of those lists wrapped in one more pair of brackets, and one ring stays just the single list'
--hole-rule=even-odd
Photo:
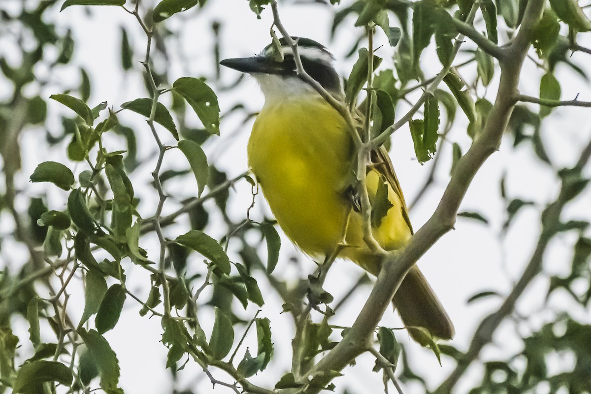
[{"label": "green leaf with small pale holes, left of the bird's breast", "polygon": [[177,79],[173,88],[187,100],[207,131],[219,135],[220,108],[213,90],[202,80],[190,77]]}]

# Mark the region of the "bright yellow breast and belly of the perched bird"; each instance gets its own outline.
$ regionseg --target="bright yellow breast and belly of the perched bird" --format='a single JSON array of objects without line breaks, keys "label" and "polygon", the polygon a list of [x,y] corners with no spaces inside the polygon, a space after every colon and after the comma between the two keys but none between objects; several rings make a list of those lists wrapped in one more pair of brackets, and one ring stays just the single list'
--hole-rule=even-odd
[{"label": "bright yellow breast and belly of the perched bird", "polygon": [[[351,211],[346,193],[353,142],[341,116],[321,97],[302,97],[265,105],[248,142],[249,165],[278,224],[304,252],[321,256],[343,239]],[[379,175],[368,173],[369,196],[375,196]],[[401,201],[392,188],[392,208],[374,229],[385,249],[396,249],[411,232],[402,217]],[[350,212],[346,240],[352,248],[343,257],[369,271],[369,249],[362,241],[361,214]]]}]

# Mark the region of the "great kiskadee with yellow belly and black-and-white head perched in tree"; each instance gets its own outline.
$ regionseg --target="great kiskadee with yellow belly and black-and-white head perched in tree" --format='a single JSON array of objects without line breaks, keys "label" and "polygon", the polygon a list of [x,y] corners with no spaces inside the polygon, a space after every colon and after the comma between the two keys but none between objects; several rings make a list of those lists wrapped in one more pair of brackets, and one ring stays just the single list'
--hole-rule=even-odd
[{"label": "great kiskadee with yellow belly and black-and-white head perched in tree", "polygon": [[[332,54],[316,41],[294,39],[306,73],[343,101],[345,95],[332,66]],[[336,250],[346,231],[348,246],[339,257],[378,275],[381,259],[363,241],[362,215],[349,187],[356,152],[346,122],[298,77],[291,47],[283,39],[280,44],[281,48],[268,45],[253,57],[221,62],[251,74],[265,96],[248,141],[249,166],[277,223],[301,250],[322,258]],[[278,50],[282,56],[276,56],[274,51]],[[374,223],[372,233],[382,248],[398,249],[413,235],[413,229],[384,148],[375,149],[368,162],[366,185],[370,201],[375,200],[379,183],[387,186],[391,207]],[[416,266],[405,277],[393,302],[405,326],[426,328],[441,339],[453,337],[450,318]],[[419,339],[413,331],[409,330],[410,334]]]}]

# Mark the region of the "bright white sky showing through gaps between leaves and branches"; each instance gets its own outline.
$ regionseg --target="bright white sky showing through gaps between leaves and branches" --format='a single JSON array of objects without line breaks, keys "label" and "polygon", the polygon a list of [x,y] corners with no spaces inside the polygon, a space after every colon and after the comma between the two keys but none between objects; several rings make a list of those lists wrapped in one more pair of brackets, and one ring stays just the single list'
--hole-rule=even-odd
[{"label": "bright white sky showing through gaps between leaves and branches", "polygon": [[[6,1],[6,0],[4,0]],[[348,2],[343,1],[345,4]],[[12,2],[14,4],[14,2]],[[63,31],[71,27],[76,40],[76,51],[74,53],[74,64],[82,64],[89,70],[90,79],[93,82],[92,96],[90,105],[96,105],[99,102],[108,100],[109,105],[115,109],[119,108],[121,103],[138,98],[145,97],[142,89],[140,74],[141,65],[137,61],[144,57],[145,37],[139,28],[135,19],[126,14],[121,9],[115,7],[93,7],[87,9],[72,6],[61,13],[51,14],[51,19],[55,22],[59,30]],[[345,53],[349,50],[350,43],[361,34],[361,28],[353,28],[354,20],[346,19],[343,26],[337,30],[336,40],[330,43],[329,27],[332,24],[333,9],[321,5],[281,5],[281,17],[285,27],[292,35],[310,37],[321,43],[325,43],[330,51],[335,54],[336,68],[341,74],[346,74],[352,66],[355,58],[344,60]],[[265,11],[261,20],[257,20],[255,15],[249,11],[248,2],[240,1],[214,1],[209,0],[206,8],[203,10],[193,9],[184,14],[176,15],[167,22],[171,31],[180,34],[181,47],[167,47],[171,61],[168,67],[168,76],[170,82],[178,77],[213,77],[212,60],[212,35],[210,25],[212,21],[222,22],[220,36],[222,38],[222,58],[241,57],[258,53],[269,42],[269,27],[271,27],[272,18],[270,9]],[[394,18],[391,18],[394,21]],[[135,55],[134,73],[122,74],[119,60],[119,26],[124,25],[128,28],[131,36],[131,43],[134,47]],[[501,43],[506,41],[504,30],[499,28]],[[376,35],[377,45],[384,45],[379,51],[378,56],[384,57],[382,69],[391,67],[391,49],[387,45],[385,37]],[[580,34],[579,43],[589,47],[591,45],[591,34]],[[466,43],[466,47],[473,48],[471,43]],[[2,50],[0,49],[0,54]],[[429,48],[423,54],[423,62],[427,65],[427,77],[433,76],[439,71],[439,61],[430,61],[434,58],[433,48]],[[184,58],[188,61],[182,64],[178,61]],[[579,64],[591,74],[591,58],[589,55],[576,53],[571,57],[574,63]],[[558,69],[558,79],[562,82],[563,99],[572,99],[577,93],[581,93],[580,100],[591,100],[591,89],[589,84],[578,77],[562,78],[564,68]],[[498,83],[498,70],[496,70],[495,79],[486,92],[486,97],[493,100],[495,93],[495,84]],[[535,68],[531,61],[526,61],[524,73],[522,74],[520,89],[522,93],[537,96],[538,81],[541,73]],[[222,70],[223,83],[225,85],[233,82],[238,77],[238,73],[233,70]],[[470,76],[470,71],[466,71],[466,76]],[[66,69],[60,73],[51,76],[61,86],[76,87],[79,84],[79,73],[73,69]],[[411,83],[412,84],[412,83]],[[212,83],[210,86],[220,92],[220,86]],[[53,93],[61,93],[55,90],[46,89],[43,96],[47,97]],[[479,93],[484,91],[479,89]],[[167,103],[168,97],[163,101]],[[412,96],[411,96],[412,99]],[[222,113],[231,108],[237,102],[245,102],[250,112],[257,111],[262,105],[262,95],[253,80],[241,84],[238,89],[231,92],[220,93],[220,108]],[[532,107],[534,108],[534,107]],[[397,108],[398,116],[404,113],[404,105]],[[58,103],[50,102],[50,119],[53,123],[51,127],[54,131],[59,128],[57,123],[57,113],[66,113]],[[586,144],[591,137],[591,116],[584,109],[570,108],[556,111],[544,122],[543,138],[548,152],[556,163],[557,167],[572,165],[579,155],[583,144]],[[70,115],[70,114],[68,114]],[[150,180],[149,172],[154,167],[154,157],[157,147],[150,136],[150,131],[141,120],[141,117],[134,114],[121,113],[119,116],[125,123],[132,123],[137,128],[138,133],[138,156],[147,159],[149,163],[141,167],[133,175],[134,185],[147,184]],[[463,114],[458,109],[457,118],[463,119]],[[242,115],[232,115],[223,119],[219,138],[212,138],[205,146],[206,153],[210,162],[215,162],[219,168],[228,171],[229,177],[238,175],[246,170],[245,147],[248,139],[252,120],[246,125],[242,125]],[[235,131],[238,132],[235,133]],[[173,145],[168,133],[164,129],[159,129],[161,135],[166,140],[165,143]],[[145,138],[143,138],[145,136]],[[230,138],[231,137],[231,138]],[[42,149],[34,149],[39,135],[33,132],[25,133],[22,138],[22,146],[31,146],[24,152],[24,165],[20,186],[24,188],[28,195],[37,195],[45,190],[42,185],[31,185],[27,182],[35,165],[46,159],[61,158],[63,150],[53,153]],[[431,286],[439,295],[441,302],[449,311],[456,326],[456,338],[452,344],[460,350],[466,350],[467,344],[472,337],[473,330],[480,322],[481,318],[493,311],[501,301],[500,298],[486,298],[473,304],[466,305],[466,299],[471,295],[483,290],[498,291],[506,294],[511,289],[512,282],[521,274],[521,270],[527,263],[532,247],[535,245],[539,230],[539,213],[545,204],[552,201],[558,190],[558,183],[554,178],[554,172],[550,171],[541,162],[534,157],[527,142],[522,144],[519,149],[511,148],[511,138],[506,139],[499,152],[496,152],[486,162],[483,168],[476,175],[470,189],[463,201],[460,211],[478,211],[489,219],[490,226],[473,220],[458,219],[456,230],[444,236],[433,248],[431,248],[424,258],[420,261],[421,269],[427,276]],[[470,139],[465,133],[465,122],[456,122],[456,126],[449,135],[450,142],[457,142],[462,146],[465,152],[470,145]],[[118,141],[120,143],[121,141]],[[115,145],[113,145],[115,146]],[[394,135],[392,140],[392,150],[390,152],[392,161],[397,169],[398,177],[407,201],[413,200],[415,194],[423,185],[423,180],[430,170],[430,164],[421,166],[414,158],[413,145],[407,128],[403,128]],[[415,229],[418,229],[428,217],[430,217],[437,202],[443,193],[449,174],[451,162],[451,144],[446,144],[443,151],[444,157],[441,158],[441,166],[436,176],[436,183],[430,189],[427,196],[411,211],[411,220]],[[177,151],[169,151],[165,159],[165,168],[186,167],[184,158]],[[82,171],[80,164],[66,163],[75,171]],[[142,172],[143,171],[143,172]],[[499,198],[499,180],[504,172],[508,174],[508,195],[509,198],[522,198],[523,200],[535,201],[534,207],[528,207],[522,210],[515,219],[505,242],[499,242],[498,232],[505,220],[504,207]],[[171,200],[178,201],[184,197],[191,196],[196,191],[196,185],[176,184],[178,189],[174,188],[174,183],[168,184],[168,193],[173,194]],[[145,192],[145,193],[144,193]],[[151,193],[144,201],[141,209],[144,210],[145,217],[151,215],[155,206],[157,194],[155,191],[145,189],[142,194]],[[238,220],[245,215],[245,210],[250,201],[250,187],[246,183],[239,184],[236,187],[236,198],[233,198],[232,215]],[[57,197],[57,201],[65,201],[66,194],[63,192],[51,192],[51,197]],[[586,191],[578,202],[566,210],[565,219],[591,219],[591,210],[589,210],[589,197],[591,193]],[[152,198],[152,201],[150,201]],[[55,199],[54,199],[55,201]],[[269,214],[268,209],[262,198],[257,201],[257,214],[262,211]],[[63,209],[63,205],[52,206],[51,209]],[[172,211],[176,205],[167,203],[165,211]],[[24,209],[24,206],[22,207]],[[220,229],[215,227],[216,216],[212,215],[210,219],[209,232],[213,236],[219,235]],[[213,223],[213,224],[212,224]],[[180,232],[181,227],[176,227]],[[175,229],[169,230],[174,233]],[[570,267],[571,246],[576,241],[576,235],[567,233],[557,236],[545,256],[545,269],[551,273],[566,273]],[[142,239],[142,246],[148,250],[153,259],[156,259],[158,250],[157,241],[152,237]],[[7,249],[3,248],[2,259],[7,264],[12,264],[12,268],[18,266],[15,259],[7,256]],[[281,249],[281,259],[277,272],[285,277],[294,277],[298,275],[297,269],[288,259],[296,255],[297,250],[283,239]],[[266,253],[265,253],[266,254]],[[300,256],[301,257],[301,256]],[[232,258],[232,256],[230,256]],[[199,263],[196,261],[196,264]],[[306,271],[313,269],[313,263],[304,259],[303,266]],[[140,298],[147,295],[148,276],[141,272],[137,267],[128,269],[128,287],[134,291],[137,288],[137,294]],[[330,272],[325,285],[327,291],[339,299],[353,282],[361,274],[361,269],[349,262],[338,262]],[[527,290],[524,299],[518,304],[518,312],[522,315],[530,315],[532,311],[536,313],[525,323],[518,325],[519,333],[528,333],[535,331],[542,324],[550,321],[551,312],[540,311],[543,307],[543,298],[547,290],[548,276],[538,278]],[[275,297],[266,295],[272,291],[264,285],[264,280],[259,281],[261,289],[265,295],[265,307],[259,317],[269,317],[272,321],[272,331],[274,333],[275,357],[277,361],[269,366],[269,369],[258,376],[252,378],[252,382],[263,386],[271,385],[278,380],[278,377],[288,368],[288,360],[291,360],[290,340],[291,327],[287,315],[280,315],[281,302]],[[82,292],[76,293],[76,288],[72,288],[72,301],[70,305],[75,305],[76,300],[80,302],[80,310],[70,308],[74,317],[81,314],[83,295]],[[80,288],[78,288],[80,291]],[[369,294],[369,287],[363,288],[356,293],[356,296],[349,302],[346,308],[331,320],[332,324],[350,325],[356,314],[360,310],[365,297]],[[553,304],[560,308],[564,302],[569,302],[568,297],[554,297]],[[139,317],[139,305],[135,304],[131,298],[128,298],[121,321],[115,328],[106,334],[106,338],[111,343],[113,350],[116,351],[121,363],[121,386],[128,394],[135,393],[160,393],[170,390],[170,373],[164,370],[165,347],[159,343],[161,339],[160,319]],[[249,308],[243,314],[246,319],[252,318],[256,310]],[[581,318],[586,323],[591,323],[589,311],[577,308],[573,305],[571,311],[574,316]],[[74,318],[75,320],[76,318]],[[202,317],[204,328],[209,327],[207,320]],[[382,322],[388,327],[400,326],[397,316],[392,312],[387,312]],[[242,327],[237,326],[236,336],[241,336]],[[207,330],[206,330],[207,332]],[[408,342],[405,334],[400,332],[397,338]],[[494,357],[503,357],[506,354],[515,354],[521,349],[520,342],[515,336],[514,326],[504,324],[499,328],[495,335],[493,345],[486,347],[483,352],[483,359],[493,359]],[[28,347],[27,336],[21,335],[22,352],[30,349]],[[430,386],[436,387],[441,380],[447,376],[447,373],[453,369],[452,360],[443,357],[443,366],[440,367],[435,357],[428,350],[410,345],[410,359],[415,367],[429,376]],[[239,357],[243,350],[239,352]],[[381,375],[371,373],[374,360],[369,356],[362,356],[358,360],[357,366],[346,370],[346,377],[340,377],[335,380],[339,390],[350,388],[352,393],[362,392],[381,392],[383,386]],[[478,378],[478,366],[473,366],[468,379]],[[212,392],[209,380],[200,371],[196,364],[190,362],[181,374],[181,382],[187,387],[193,387],[194,391]],[[216,376],[225,377],[224,374]],[[228,379],[225,379],[229,381]],[[272,382],[272,383],[271,383]],[[469,382],[460,384],[458,392],[463,392],[469,386]],[[194,386],[197,385],[197,386]],[[197,387],[199,389],[197,389]],[[178,389],[183,389],[180,386]],[[225,388],[217,388],[219,392],[229,392]],[[394,390],[391,388],[391,390]],[[407,393],[413,393],[415,390],[410,385]]]}]

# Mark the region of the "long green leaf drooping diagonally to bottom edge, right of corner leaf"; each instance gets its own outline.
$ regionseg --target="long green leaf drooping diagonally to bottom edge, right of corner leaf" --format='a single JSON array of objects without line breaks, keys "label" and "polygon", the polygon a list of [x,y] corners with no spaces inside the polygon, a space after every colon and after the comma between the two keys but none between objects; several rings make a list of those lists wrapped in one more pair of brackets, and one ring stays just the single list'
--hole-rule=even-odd
[{"label": "long green leaf drooping diagonally to bottom edge, right of corner leaf", "polygon": [[123,394],[117,387],[119,384],[119,362],[109,343],[95,330],[86,331],[84,328],[76,330],[95,361],[100,374],[100,387],[107,394]]}]

